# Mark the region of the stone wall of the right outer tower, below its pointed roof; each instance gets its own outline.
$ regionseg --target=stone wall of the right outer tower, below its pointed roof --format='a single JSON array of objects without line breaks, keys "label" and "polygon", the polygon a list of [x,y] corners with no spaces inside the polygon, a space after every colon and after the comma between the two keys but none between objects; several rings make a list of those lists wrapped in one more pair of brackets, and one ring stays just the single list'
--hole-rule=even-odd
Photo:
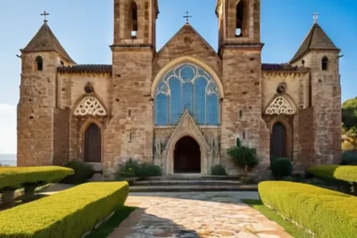
[{"label": "stone wall of the right outer tower, below its pointed roof", "polygon": [[[328,57],[328,70],[321,60]],[[339,58],[337,51],[311,51],[303,60],[311,68],[311,98],[314,108],[315,163],[341,160],[342,111]]]}]

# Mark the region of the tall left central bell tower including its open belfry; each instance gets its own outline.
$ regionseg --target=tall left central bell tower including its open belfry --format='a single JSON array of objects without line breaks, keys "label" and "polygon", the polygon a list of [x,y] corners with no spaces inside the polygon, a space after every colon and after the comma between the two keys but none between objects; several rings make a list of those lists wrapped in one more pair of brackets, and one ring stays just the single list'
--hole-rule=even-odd
[{"label": "tall left central bell tower including its open belfry", "polygon": [[105,133],[104,166],[153,159],[153,102],[157,0],[114,0],[112,119]]}]

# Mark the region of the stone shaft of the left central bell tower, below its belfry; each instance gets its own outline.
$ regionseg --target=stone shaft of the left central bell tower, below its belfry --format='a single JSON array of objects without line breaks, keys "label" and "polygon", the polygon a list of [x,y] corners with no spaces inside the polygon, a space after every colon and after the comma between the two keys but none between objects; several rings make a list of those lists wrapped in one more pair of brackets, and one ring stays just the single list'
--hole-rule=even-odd
[{"label": "stone shaft of the left central bell tower, below its belfry", "polygon": [[152,162],[152,62],[150,48],[113,48],[112,119],[104,135],[107,173],[128,158]]}]

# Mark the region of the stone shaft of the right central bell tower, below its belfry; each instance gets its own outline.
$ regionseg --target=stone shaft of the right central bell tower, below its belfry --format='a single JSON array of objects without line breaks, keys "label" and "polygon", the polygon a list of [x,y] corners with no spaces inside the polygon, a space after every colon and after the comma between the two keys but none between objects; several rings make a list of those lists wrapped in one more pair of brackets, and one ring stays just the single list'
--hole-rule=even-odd
[{"label": "stone shaft of the right central bell tower, below its belfry", "polygon": [[262,119],[261,50],[228,47],[222,53],[222,62],[226,93],[221,111],[223,164],[230,174],[237,173],[226,152],[239,137],[243,144],[257,149],[264,167],[269,163],[270,132]]}]

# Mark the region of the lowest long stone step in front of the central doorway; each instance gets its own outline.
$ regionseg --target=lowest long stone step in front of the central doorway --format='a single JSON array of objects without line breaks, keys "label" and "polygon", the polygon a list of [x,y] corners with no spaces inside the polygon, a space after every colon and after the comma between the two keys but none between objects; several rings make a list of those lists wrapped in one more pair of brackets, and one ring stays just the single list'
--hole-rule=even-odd
[{"label": "lowest long stone step in front of the central doorway", "polygon": [[257,185],[173,185],[173,186],[130,186],[130,193],[159,193],[159,192],[221,192],[221,191],[253,191]]}]

